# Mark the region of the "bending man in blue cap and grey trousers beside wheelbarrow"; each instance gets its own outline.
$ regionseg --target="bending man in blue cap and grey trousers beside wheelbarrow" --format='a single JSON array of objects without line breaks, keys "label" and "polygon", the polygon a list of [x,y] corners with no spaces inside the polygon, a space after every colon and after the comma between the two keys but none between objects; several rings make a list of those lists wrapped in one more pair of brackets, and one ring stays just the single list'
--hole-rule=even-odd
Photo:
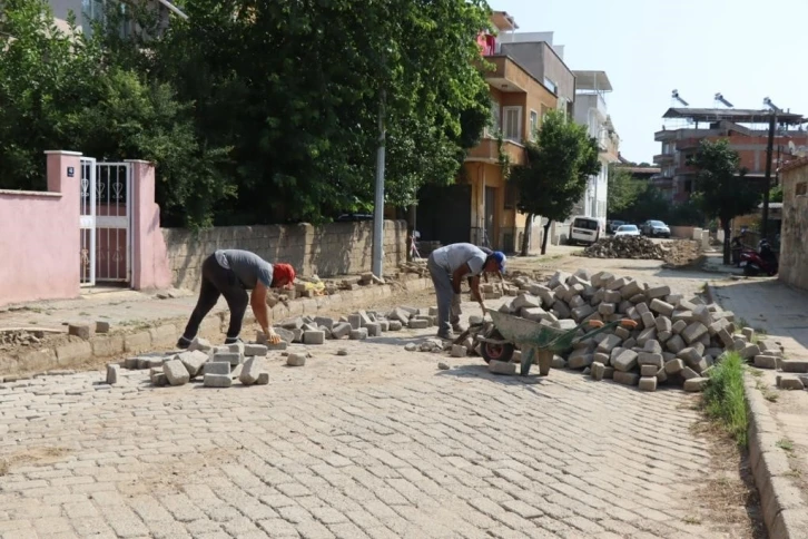
[{"label": "bending man in blue cap and grey trousers beside wheelbarrow", "polygon": [[[460,326],[460,285],[463,277],[471,277],[471,290],[485,315],[485,303],[480,294],[480,275],[483,272],[505,272],[505,255],[499,251],[486,255],[470,243],[455,243],[430,254],[426,266],[432,275],[437,295],[437,336],[453,339],[452,330]],[[450,325],[451,324],[451,325]]]}]

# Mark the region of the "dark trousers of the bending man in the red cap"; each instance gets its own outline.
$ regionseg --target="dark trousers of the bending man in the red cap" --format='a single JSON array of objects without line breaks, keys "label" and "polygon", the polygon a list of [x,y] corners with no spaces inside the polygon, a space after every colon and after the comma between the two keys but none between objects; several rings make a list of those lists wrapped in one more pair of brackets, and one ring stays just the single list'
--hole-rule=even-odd
[{"label": "dark trousers of the bending man in the red cap", "polygon": [[190,314],[188,325],[185,326],[183,336],[193,340],[199,331],[203,318],[216,306],[219,296],[225,296],[227,306],[230,308],[230,326],[227,329],[227,339],[236,339],[242,332],[244,313],[247,312],[249,295],[242,286],[236,274],[231,270],[224,268],[216,262],[214,255],[203,262],[201,290],[199,300],[194,312]]}]

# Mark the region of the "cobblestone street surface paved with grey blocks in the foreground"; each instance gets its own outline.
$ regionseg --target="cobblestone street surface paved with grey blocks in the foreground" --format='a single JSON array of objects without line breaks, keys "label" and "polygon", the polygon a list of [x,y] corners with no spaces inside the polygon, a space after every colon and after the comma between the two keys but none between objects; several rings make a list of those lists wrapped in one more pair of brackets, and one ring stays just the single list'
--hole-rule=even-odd
[{"label": "cobblestone street surface paved with grey blocks in the foreground", "polygon": [[694,497],[698,396],[403,350],[431,335],[273,356],[264,386],[2,384],[0,537],[741,537]]}]

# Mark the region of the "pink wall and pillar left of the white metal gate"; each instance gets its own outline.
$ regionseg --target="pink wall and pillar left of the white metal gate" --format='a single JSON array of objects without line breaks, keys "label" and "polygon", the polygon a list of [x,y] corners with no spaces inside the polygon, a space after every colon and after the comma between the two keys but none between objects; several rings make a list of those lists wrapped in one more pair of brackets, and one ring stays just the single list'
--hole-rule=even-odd
[{"label": "pink wall and pillar left of the white metal gate", "polygon": [[81,154],[46,154],[48,192],[0,190],[0,305],[79,295]]}]

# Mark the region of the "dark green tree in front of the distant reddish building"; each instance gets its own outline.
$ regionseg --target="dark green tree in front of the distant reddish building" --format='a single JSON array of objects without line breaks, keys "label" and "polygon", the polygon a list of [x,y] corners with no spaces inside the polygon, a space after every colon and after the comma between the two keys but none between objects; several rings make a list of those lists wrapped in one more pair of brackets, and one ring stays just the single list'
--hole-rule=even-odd
[{"label": "dark green tree in front of the distant reddish building", "polygon": [[753,182],[743,178],[740,156],[726,139],[702,140],[689,164],[699,169],[694,200],[708,217],[718,218],[723,229],[723,263],[730,263],[730,222],[758,207],[761,194]]}]

